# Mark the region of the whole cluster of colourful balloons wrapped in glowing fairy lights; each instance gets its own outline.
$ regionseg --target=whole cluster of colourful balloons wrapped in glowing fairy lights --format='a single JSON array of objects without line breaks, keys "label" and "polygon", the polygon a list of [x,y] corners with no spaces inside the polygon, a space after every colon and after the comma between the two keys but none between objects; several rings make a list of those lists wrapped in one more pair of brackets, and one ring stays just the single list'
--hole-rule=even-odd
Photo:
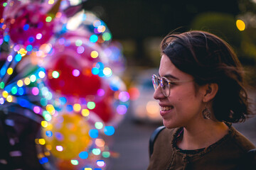
[{"label": "whole cluster of colourful balloons wrapped in glowing fairy lights", "polygon": [[106,24],[72,2],[1,2],[0,104],[43,117],[45,169],[105,169],[129,106],[124,57]]}]

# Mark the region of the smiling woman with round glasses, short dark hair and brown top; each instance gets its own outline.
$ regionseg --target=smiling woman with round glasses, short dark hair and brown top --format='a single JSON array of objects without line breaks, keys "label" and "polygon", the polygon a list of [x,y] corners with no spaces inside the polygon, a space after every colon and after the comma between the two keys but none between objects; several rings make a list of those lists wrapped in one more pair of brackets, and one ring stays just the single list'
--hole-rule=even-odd
[{"label": "smiling woman with round glasses, short dark hair and brown top", "polygon": [[161,55],[152,80],[166,128],[148,170],[238,169],[255,145],[231,125],[251,114],[235,52],[211,33],[189,31],[167,35]]}]

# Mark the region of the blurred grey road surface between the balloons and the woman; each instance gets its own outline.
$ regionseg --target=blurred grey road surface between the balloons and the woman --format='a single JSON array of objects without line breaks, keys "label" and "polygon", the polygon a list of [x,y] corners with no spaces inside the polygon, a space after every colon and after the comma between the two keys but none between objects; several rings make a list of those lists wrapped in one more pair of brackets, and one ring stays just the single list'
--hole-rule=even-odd
[{"label": "blurred grey road surface between the balloons and the woman", "polygon": [[149,164],[149,137],[158,125],[134,123],[128,114],[114,134],[112,150],[119,157],[109,160],[107,170],[142,170]]}]

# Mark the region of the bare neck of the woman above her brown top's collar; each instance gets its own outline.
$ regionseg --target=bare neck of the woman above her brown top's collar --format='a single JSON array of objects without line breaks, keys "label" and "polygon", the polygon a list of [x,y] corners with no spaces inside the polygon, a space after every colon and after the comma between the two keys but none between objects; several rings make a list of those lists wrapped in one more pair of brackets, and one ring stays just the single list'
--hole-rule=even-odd
[{"label": "bare neck of the woman above her brown top's collar", "polygon": [[177,142],[180,149],[201,149],[213,145],[228,134],[228,125],[213,120],[183,128],[183,135]]}]

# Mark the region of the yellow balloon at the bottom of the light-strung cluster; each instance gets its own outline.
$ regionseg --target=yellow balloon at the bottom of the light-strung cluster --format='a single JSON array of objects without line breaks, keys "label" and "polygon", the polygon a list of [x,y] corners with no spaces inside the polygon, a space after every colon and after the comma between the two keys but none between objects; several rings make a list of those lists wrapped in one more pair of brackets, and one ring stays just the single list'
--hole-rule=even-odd
[{"label": "yellow balloon at the bottom of the light-strung cluster", "polygon": [[89,130],[87,120],[81,115],[64,113],[53,118],[42,132],[53,156],[72,159],[90,144]]}]

